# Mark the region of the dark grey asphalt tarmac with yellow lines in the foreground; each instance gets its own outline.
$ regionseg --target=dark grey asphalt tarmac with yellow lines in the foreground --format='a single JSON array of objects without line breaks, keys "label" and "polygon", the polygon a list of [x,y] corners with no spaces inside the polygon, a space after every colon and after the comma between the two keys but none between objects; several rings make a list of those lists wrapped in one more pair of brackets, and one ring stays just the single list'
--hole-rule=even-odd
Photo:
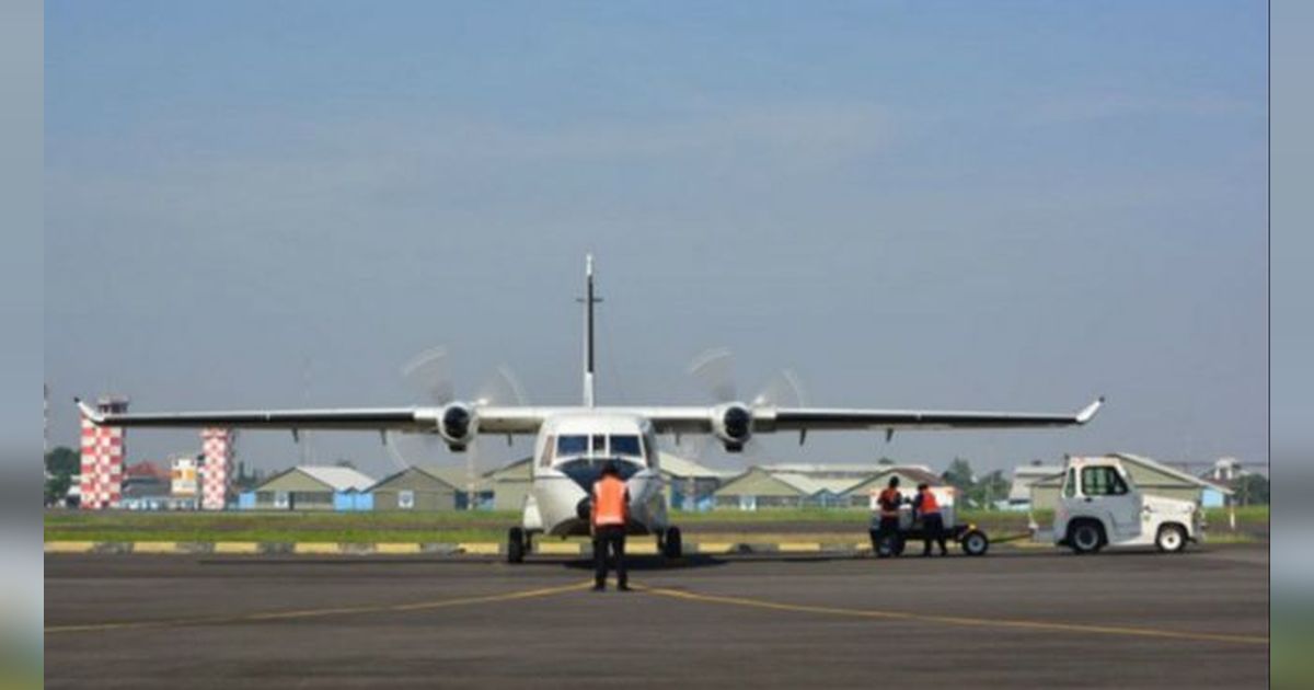
[{"label": "dark grey asphalt tarmac with yellow lines in the foreground", "polygon": [[1268,553],[47,556],[47,687],[1264,687]]}]

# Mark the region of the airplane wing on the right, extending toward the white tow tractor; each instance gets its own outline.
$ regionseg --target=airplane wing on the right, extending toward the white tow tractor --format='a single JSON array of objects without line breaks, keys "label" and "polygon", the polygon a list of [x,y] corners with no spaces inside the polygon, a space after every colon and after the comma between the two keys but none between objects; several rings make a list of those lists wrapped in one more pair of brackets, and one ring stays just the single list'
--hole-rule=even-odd
[{"label": "airplane wing on the right, extending toward the white tow tractor", "polygon": [[[748,407],[754,432],[824,430],[905,428],[1025,428],[1080,426],[1095,418],[1104,398],[1070,414],[866,410],[830,407]],[[707,434],[724,407],[650,407],[635,410],[653,422],[658,432]]]}]

